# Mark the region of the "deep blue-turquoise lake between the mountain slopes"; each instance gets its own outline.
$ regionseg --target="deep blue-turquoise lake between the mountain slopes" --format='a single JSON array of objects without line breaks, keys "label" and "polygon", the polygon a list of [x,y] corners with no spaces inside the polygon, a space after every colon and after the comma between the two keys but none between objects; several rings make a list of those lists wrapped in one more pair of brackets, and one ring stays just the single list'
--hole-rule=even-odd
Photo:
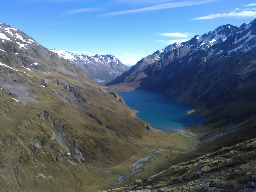
[{"label": "deep blue-turquoise lake between the mountain slopes", "polygon": [[136,116],[147,121],[153,128],[174,132],[190,125],[202,125],[204,117],[188,115],[193,107],[172,99],[162,92],[135,90],[119,93]]}]

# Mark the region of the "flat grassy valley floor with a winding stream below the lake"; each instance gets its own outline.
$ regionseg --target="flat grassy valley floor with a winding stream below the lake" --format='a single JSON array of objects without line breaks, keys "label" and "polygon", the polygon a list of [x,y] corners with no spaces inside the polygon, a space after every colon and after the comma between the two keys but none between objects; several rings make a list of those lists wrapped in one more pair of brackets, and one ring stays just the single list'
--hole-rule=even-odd
[{"label": "flat grassy valley floor with a winding stream below the lake", "polygon": [[196,146],[196,141],[193,140],[192,132],[171,133],[155,129],[147,141],[138,145],[139,149],[129,159],[106,170],[109,177],[99,181],[98,189],[109,190],[122,187],[135,180],[159,173],[174,164],[184,162],[187,158],[186,152]]}]

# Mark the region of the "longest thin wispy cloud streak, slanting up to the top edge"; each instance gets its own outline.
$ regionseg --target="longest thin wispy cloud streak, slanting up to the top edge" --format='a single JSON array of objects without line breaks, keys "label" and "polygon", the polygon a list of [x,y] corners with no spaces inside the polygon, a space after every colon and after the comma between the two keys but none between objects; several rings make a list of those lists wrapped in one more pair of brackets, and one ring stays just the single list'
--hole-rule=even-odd
[{"label": "longest thin wispy cloud streak, slanting up to the top edge", "polygon": [[140,9],[132,9],[132,10],[126,10],[126,11],[117,11],[117,12],[106,13],[106,14],[103,14],[103,16],[115,16],[115,15],[122,15],[122,14],[170,9],[170,8],[176,8],[176,7],[187,7],[187,6],[192,6],[192,5],[211,3],[211,2],[215,2],[215,1],[218,1],[218,0],[190,0],[190,1],[183,1],[183,2],[175,2],[175,3],[165,3],[165,4],[155,5],[155,6],[144,7],[144,8],[140,8]]}]

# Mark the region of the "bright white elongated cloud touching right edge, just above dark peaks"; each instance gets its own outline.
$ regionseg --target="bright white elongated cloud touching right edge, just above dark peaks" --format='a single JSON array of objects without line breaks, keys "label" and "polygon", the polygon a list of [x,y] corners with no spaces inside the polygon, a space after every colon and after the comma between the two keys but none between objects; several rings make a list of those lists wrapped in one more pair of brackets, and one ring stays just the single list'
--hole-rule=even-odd
[{"label": "bright white elongated cloud touching right edge, just above dark peaks", "polygon": [[214,19],[214,18],[221,18],[221,17],[237,18],[237,19],[252,18],[252,17],[256,17],[256,11],[250,10],[250,11],[241,11],[241,12],[232,11],[229,13],[216,13],[216,14],[210,14],[203,17],[194,18],[192,20],[206,20],[206,19]]}]

